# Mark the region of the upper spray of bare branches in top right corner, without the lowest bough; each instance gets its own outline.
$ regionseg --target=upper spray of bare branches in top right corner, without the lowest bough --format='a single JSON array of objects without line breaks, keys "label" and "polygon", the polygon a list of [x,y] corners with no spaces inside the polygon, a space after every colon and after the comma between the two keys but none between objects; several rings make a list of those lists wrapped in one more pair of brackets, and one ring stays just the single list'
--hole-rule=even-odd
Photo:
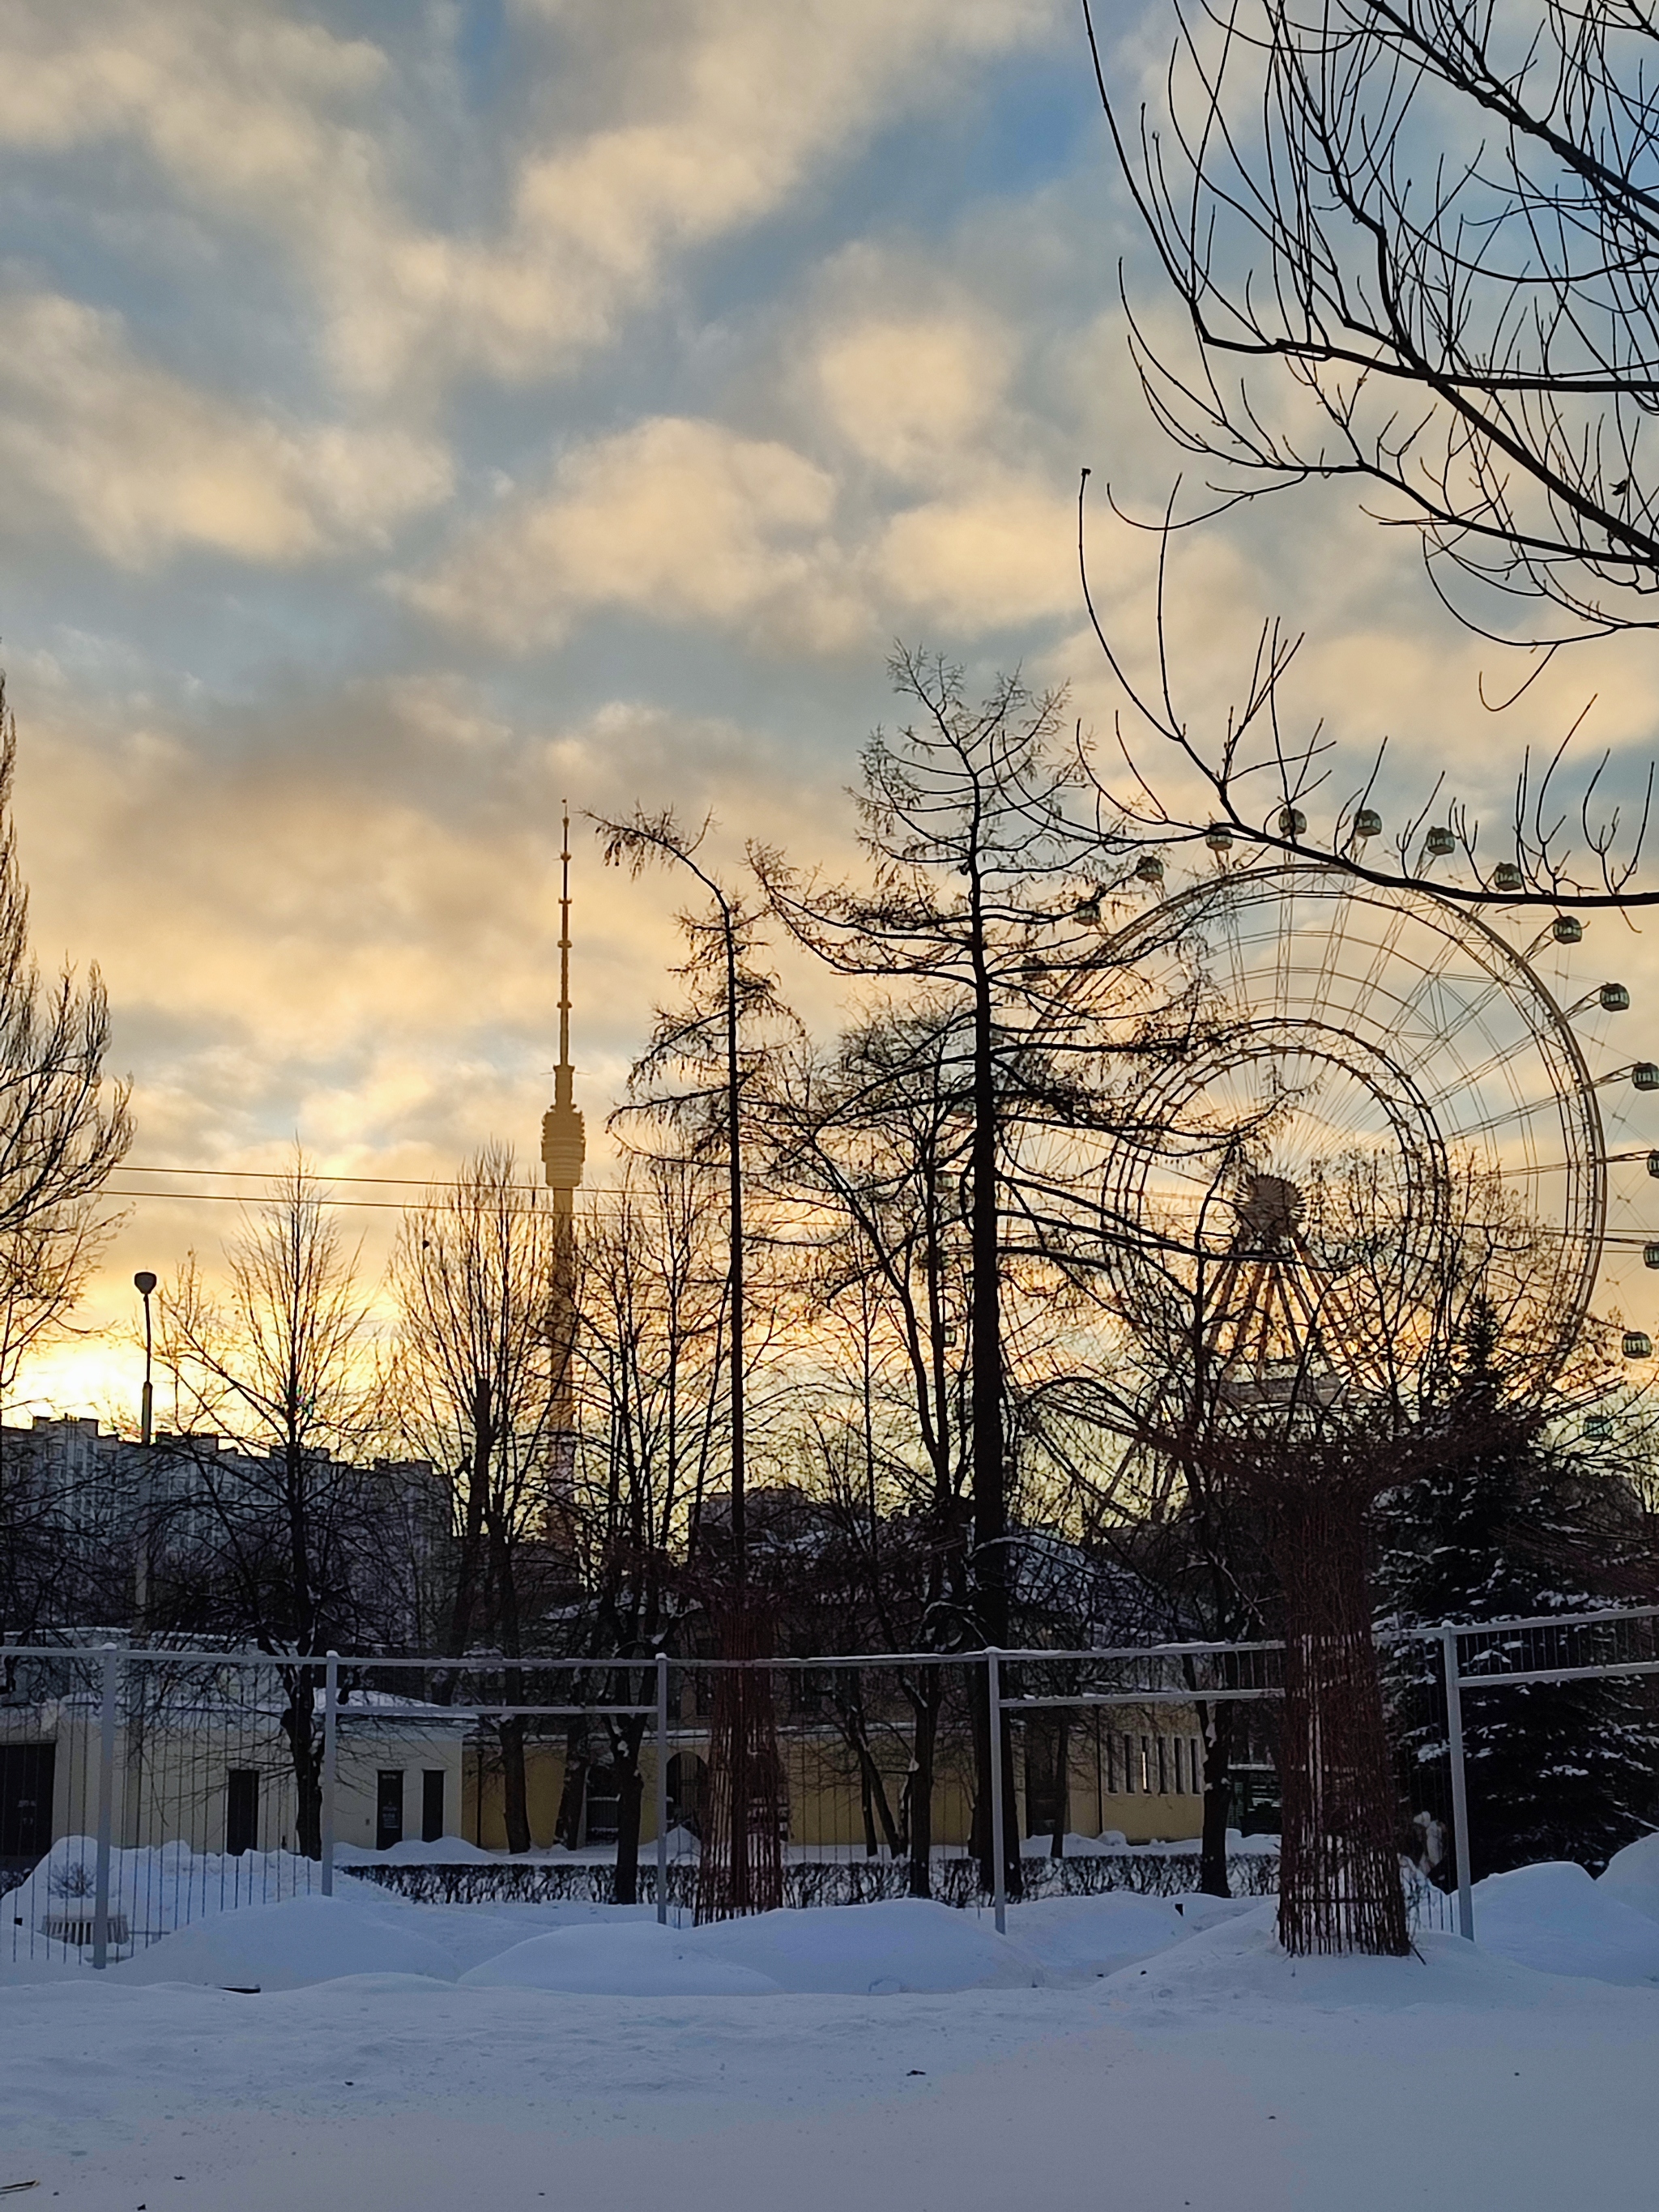
[{"label": "upper spray of bare branches in top right corner, without the lowest bough", "polygon": [[1137,327],[1144,385],[1221,502],[1358,478],[1533,635],[1659,619],[1657,44],[1644,0],[1177,0],[1157,108],[1095,44],[1199,347]]}]

